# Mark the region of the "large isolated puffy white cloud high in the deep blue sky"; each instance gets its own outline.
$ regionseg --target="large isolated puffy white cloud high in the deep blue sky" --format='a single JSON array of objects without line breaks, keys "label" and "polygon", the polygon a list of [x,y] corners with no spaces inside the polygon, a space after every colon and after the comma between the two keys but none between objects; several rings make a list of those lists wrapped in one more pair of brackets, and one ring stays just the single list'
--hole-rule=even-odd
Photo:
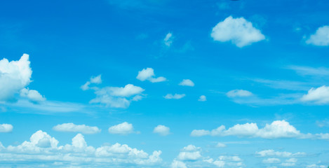
[{"label": "large isolated puffy white cloud high in the deep blue sky", "polygon": [[231,16],[213,27],[211,37],[214,41],[231,41],[239,48],[265,39],[261,31],[253,27],[251,22],[244,18],[232,18]]}]

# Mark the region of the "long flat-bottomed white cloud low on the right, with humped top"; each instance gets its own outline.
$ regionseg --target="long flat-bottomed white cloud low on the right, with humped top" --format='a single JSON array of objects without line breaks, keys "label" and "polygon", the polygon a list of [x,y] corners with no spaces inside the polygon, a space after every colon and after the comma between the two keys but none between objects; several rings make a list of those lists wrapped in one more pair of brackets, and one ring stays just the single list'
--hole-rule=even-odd
[{"label": "long flat-bottomed white cloud low on the right, with humped top", "polygon": [[298,139],[329,139],[329,134],[302,134],[286,120],[275,120],[258,128],[256,123],[237,124],[226,129],[224,125],[214,130],[193,130],[192,137],[211,136],[236,136],[236,137],[258,137],[263,139],[298,138]]}]

